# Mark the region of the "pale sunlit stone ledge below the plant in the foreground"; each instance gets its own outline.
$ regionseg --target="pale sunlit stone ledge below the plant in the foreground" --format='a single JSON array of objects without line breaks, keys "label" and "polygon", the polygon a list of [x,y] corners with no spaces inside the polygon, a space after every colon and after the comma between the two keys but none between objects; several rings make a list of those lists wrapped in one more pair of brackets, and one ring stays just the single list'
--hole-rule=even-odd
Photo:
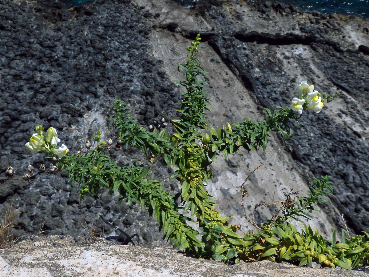
[{"label": "pale sunlit stone ledge below the plant in the foreground", "polygon": [[0,277],[364,277],[358,270],[311,269],[288,263],[240,262],[227,266],[218,260],[194,259],[172,248],[120,246],[104,240],[76,242],[70,236],[30,237],[0,250]]}]

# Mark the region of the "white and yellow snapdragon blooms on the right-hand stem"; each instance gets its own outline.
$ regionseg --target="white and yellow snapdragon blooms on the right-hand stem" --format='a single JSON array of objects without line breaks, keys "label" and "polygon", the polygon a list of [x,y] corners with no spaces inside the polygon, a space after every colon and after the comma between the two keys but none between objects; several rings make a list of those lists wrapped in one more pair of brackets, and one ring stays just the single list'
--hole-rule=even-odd
[{"label": "white and yellow snapdragon blooms on the right-hand stem", "polygon": [[324,98],[322,99],[321,94],[314,90],[314,85],[308,85],[306,80],[303,80],[296,86],[299,97],[292,99],[290,109],[295,112],[302,113],[303,109],[313,110],[315,113],[320,113],[323,109]]}]

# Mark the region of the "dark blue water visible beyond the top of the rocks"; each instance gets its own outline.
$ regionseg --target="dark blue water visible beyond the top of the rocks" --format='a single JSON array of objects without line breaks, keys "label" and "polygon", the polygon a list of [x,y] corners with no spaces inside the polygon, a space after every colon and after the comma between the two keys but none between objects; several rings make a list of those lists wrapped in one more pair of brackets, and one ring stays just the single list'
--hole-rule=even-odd
[{"label": "dark blue water visible beyond the top of the rocks", "polygon": [[[65,5],[70,7],[78,6],[80,3],[86,2],[87,0],[60,0],[65,3]],[[193,0],[175,0],[179,2],[184,7],[191,6]],[[206,1],[206,0],[202,0]],[[253,1],[253,0],[251,0]],[[254,0],[257,1],[257,0]],[[279,0],[284,3],[293,4],[296,7],[301,8],[304,11],[318,11],[320,13],[337,13],[356,15],[358,17],[365,18],[369,20],[369,0]]]}]

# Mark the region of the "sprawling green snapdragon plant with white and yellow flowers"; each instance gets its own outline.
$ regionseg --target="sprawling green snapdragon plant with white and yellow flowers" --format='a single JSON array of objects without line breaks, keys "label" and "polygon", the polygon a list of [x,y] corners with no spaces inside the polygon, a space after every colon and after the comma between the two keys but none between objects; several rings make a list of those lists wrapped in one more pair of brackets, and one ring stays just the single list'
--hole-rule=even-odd
[{"label": "sprawling green snapdragon plant with white and yellow flowers", "polygon": [[[32,153],[45,151],[49,157],[54,157],[58,167],[68,172],[72,186],[79,185],[81,198],[86,194],[98,195],[101,188],[107,188],[118,197],[119,202],[138,204],[147,209],[149,215],[157,219],[163,238],[187,254],[236,263],[239,260],[269,259],[302,266],[314,261],[323,266],[345,269],[367,264],[368,233],[351,237],[342,232],[341,243],[338,243],[335,232],[332,241],[328,241],[310,226],[303,225],[301,231],[297,231],[290,223],[291,219],[298,219],[299,216],[308,217],[305,210],[315,209],[315,204],[325,201],[321,196],[331,194],[332,187],[327,176],[314,179],[310,196],[300,197],[291,190],[286,200],[273,203],[276,205],[275,216],[261,226],[255,224],[256,232],[240,233],[237,225],[228,224],[232,216],[223,216],[215,209],[214,196],[208,193],[204,184],[212,177],[210,165],[217,162],[220,155],[228,159],[229,155],[239,153],[242,148],[246,151],[262,148],[265,151],[270,133],[279,133],[284,140],[291,136],[291,126],[298,126],[295,112],[301,114],[303,110],[310,109],[319,113],[323,103],[337,95],[321,96],[314,86],[304,80],[297,85],[299,96],[293,98],[289,107],[265,108],[266,116],[261,122],[246,118],[242,122],[227,123],[227,126],[210,126],[206,121],[210,95],[204,90],[207,72],[196,57],[200,40],[200,35],[197,35],[186,47],[187,61],[177,64],[178,70],[183,71],[184,80],[176,82],[183,86],[184,91],[180,109],[177,110],[179,115],[172,120],[175,133],[153,127],[146,130],[127,113],[129,108],[122,100],[115,101],[110,107],[113,114],[109,128],[115,130],[118,140],[115,149],[119,150],[119,145],[137,147],[144,155],[151,157],[152,163],[159,158],[166,165],[172,165],[175,171],[171,178],[180,184],[177,194],[166,192],[154,174],[148,177],[150,167],[119,165],[113,161],[104,151],[112,147],[112,140],[101,141],[101,132],[94,137],[96,147],[90,149],[92,144],[86,141],[87,151],[80,149],[75,154],[55,152],[59,142],[55,129],[48,131],[46,138],[37,131],[27,147]],[[42,127],[37,128],[43,131]],[[244,206],[247,191],[243,185],[241,187]],[[295,196],[296,199],[293,198]],[[191,217],[184,216],[186,212]],[[190,226],[189,222],[196,222],[197,228]]]}]

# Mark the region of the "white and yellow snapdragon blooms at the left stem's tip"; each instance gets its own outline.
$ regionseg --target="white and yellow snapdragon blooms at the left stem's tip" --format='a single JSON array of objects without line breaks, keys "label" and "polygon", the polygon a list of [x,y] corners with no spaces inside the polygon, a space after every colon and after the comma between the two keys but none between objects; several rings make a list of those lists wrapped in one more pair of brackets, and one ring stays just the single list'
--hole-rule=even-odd
[{"label": "white and yellow snapdragon blooms at the left stem's tip", "polygon": [[58,133],[56,133],[54,127],[50,127],[46,131],[46,135],[44,135],[44,128],[42,125],[37,125],[36,132],[37,133],[34,133],[30,138],[30,142],[25,144],[32,154],[39,151],[47,151],[52,154],[52,156],[61,159],[68,153],[69,150],[65,144],[62,144],[62,146],[58,148],[60,138],[58,138]]}]

